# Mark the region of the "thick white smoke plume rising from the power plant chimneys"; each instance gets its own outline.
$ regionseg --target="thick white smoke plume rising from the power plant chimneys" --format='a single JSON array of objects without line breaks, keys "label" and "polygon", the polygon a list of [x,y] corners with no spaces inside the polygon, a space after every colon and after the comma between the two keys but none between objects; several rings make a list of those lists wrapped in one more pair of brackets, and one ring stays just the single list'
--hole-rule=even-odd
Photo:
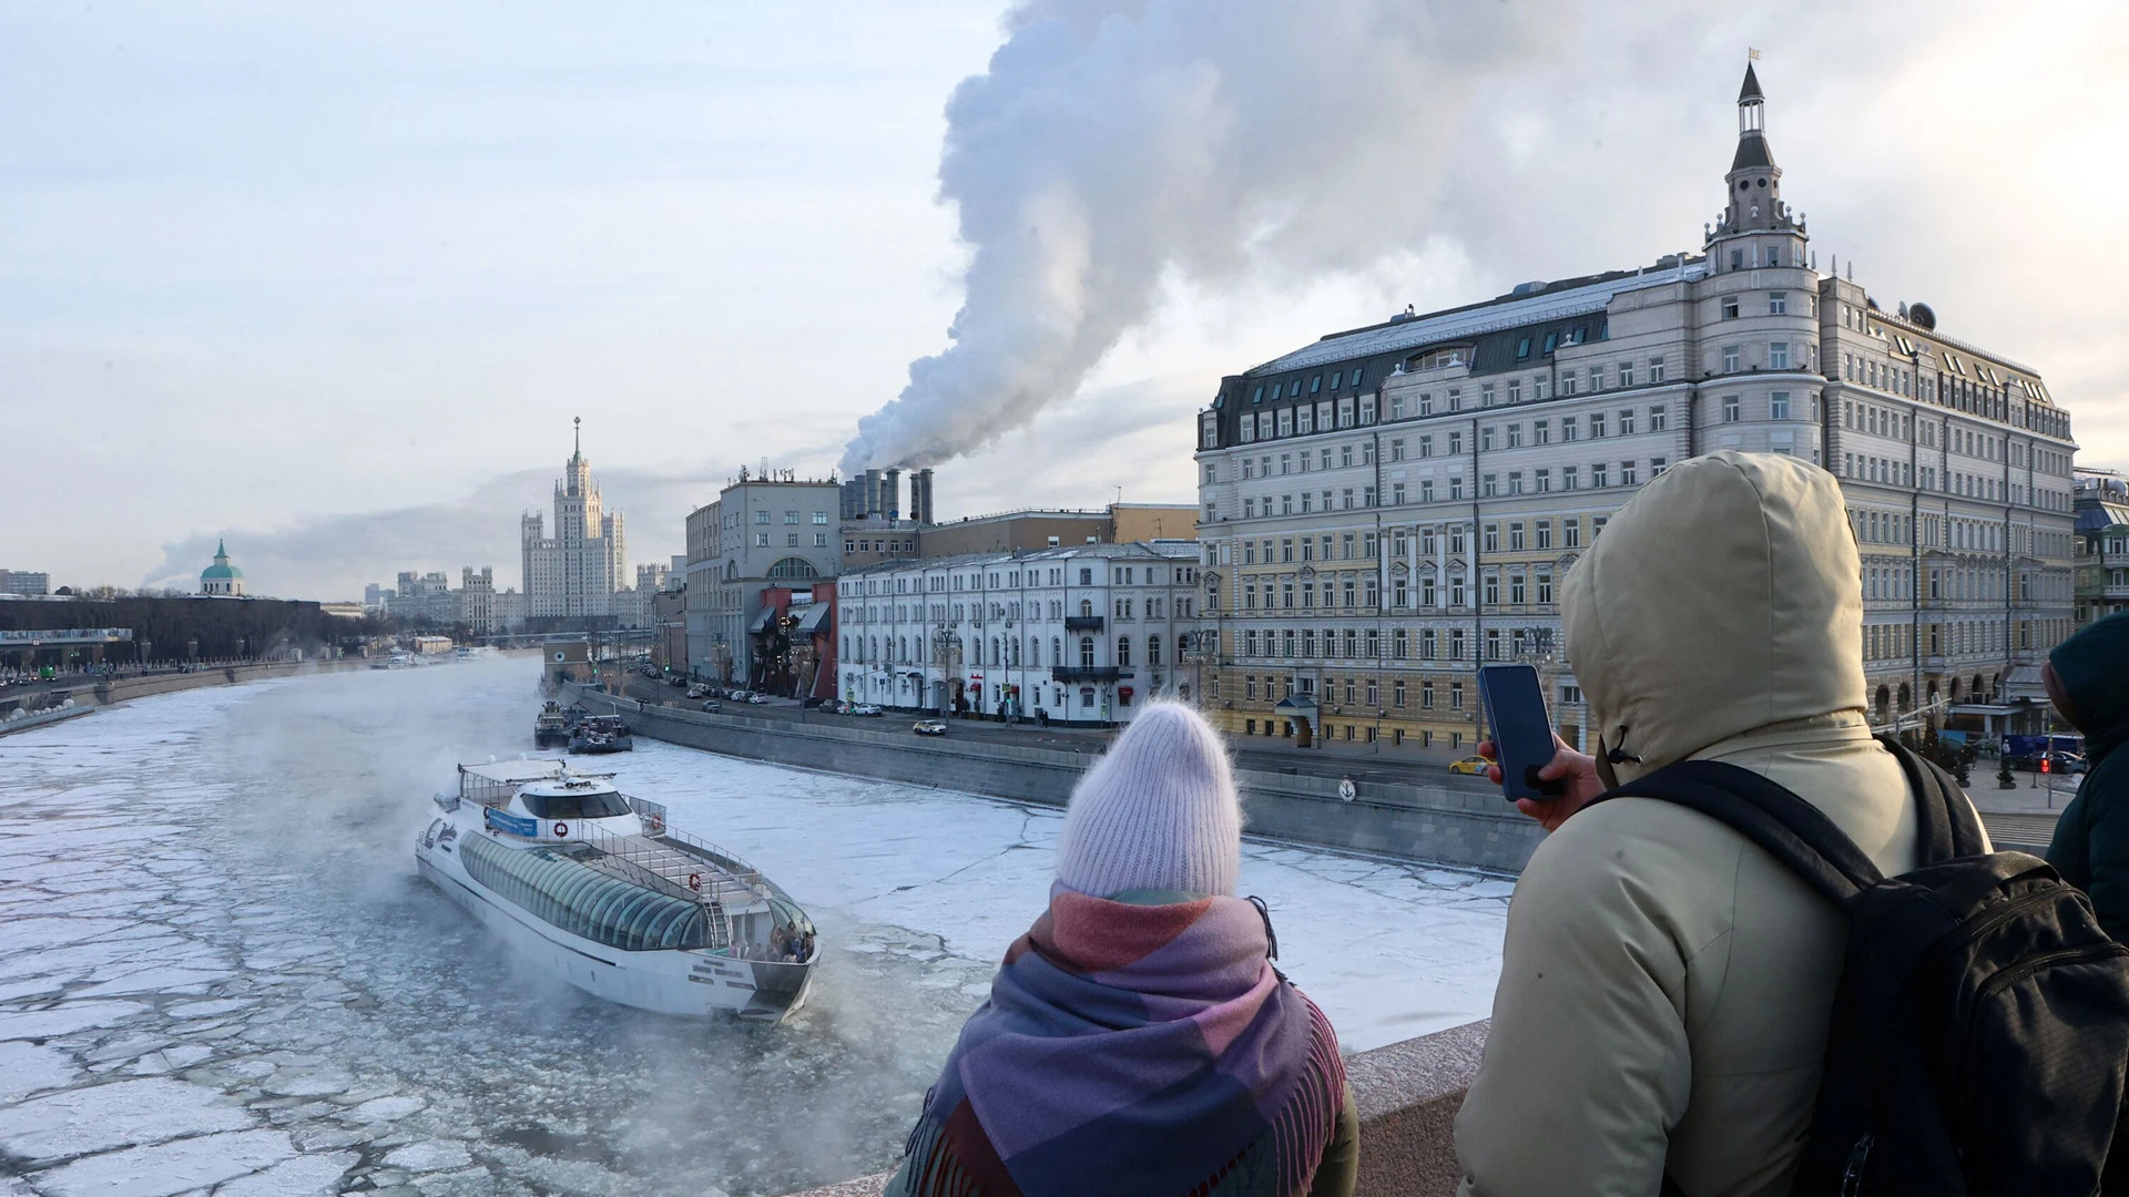
[{"label": "thick white smoke plume rising from the power plant chimneys", "polygon": [[947,102],[971,247],[952,345],[843,469],[981,449],[1073,394],[1169,273],[1360,268],[1422,241],[1473,92],[1563,40],[1499,0],[1028,0]]}]

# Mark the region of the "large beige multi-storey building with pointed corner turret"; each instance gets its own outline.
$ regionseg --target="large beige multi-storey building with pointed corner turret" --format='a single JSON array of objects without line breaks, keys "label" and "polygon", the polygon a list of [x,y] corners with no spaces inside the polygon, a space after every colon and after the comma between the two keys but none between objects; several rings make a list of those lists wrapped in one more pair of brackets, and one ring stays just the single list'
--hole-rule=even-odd
[{"label": "large beige multi-storey building with pointed corner turret", "polygon": [[[2042,718],[2072,628],[2069,415],[2040,373],[1818,270],[1746,68],[1697,256],[1335,332],[1199,424],[1207,701],[1231,733],[1469,750],[1475,669],[1529,660],[1586,733],[1558,584],[1669,462],[1833,471],[1863,550],[1871,718]],[[1693,545],[1680,545],[1693,552]]]}]

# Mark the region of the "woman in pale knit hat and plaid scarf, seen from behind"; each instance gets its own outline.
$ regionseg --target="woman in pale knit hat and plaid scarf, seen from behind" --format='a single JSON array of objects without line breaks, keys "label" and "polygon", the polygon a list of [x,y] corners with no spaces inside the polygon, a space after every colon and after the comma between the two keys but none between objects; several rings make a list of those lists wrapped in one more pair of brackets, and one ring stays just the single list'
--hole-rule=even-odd
[{"label": "woman in pale knit hat and plaid scarf, seen from behind", "polygon": [[960,1031],[890,1197],[1348,1197],[1337,1035],[1235,897],[1220,735],[1145,707],[1073,790],[1050,909]]}]

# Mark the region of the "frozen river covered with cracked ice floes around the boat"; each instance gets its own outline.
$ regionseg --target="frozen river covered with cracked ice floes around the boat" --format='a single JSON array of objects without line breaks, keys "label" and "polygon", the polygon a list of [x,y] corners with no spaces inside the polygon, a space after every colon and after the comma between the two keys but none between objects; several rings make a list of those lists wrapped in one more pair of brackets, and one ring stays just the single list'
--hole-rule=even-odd
[{"label": "frozen river covered with cracked ice floes around the boat", "polygon": [[[0,739],[0,1197],[771,1195],[888,1167],[1041,912],[1060,814],[639,741],[600,760],[822,929],[783,1027],[603,1005],[413,871],[524,660],[145,699]],[[1509,886],[1248,846],[1348,1050],[1490,1005]]]}]

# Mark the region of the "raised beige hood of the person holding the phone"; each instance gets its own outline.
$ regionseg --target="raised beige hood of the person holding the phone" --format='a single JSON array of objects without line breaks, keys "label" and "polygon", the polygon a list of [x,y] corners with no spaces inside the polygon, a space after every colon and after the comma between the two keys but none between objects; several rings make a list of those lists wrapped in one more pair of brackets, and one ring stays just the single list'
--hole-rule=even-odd
[{"label": "raised beige hood of the person holding the phone", "polygon": [[1861,711],[1861,575],[1839,483],[1810,462],[1722,452],[1644,486],[1561,592],[1605,782]]}]

